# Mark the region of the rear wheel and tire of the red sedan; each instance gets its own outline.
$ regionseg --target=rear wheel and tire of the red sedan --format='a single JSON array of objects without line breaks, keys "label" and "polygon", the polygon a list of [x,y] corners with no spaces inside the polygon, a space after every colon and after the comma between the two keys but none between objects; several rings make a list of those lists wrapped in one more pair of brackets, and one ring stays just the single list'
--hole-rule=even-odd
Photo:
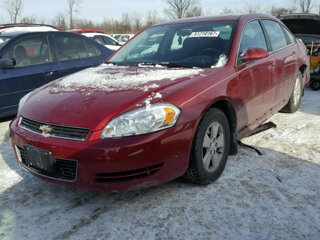
[{"label": "rear wheel and tire of the red sedan", "polygon": [[298,71],[295,75],[294,85],[289,101],[280,110],[280,112],[294,113],[299,109],[303,92],[302,79],[302,74],[300,71]]}]

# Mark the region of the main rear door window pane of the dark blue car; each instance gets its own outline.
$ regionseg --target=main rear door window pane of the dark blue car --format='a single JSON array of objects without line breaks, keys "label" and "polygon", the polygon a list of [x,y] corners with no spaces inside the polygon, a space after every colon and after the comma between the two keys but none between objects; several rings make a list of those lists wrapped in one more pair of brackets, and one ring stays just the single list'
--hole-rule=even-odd
[{"label": "main rear door window pane of the dark blue car", "polygon": [[53,36],[59,60],[88,57],[85,40],[72,36]]}]

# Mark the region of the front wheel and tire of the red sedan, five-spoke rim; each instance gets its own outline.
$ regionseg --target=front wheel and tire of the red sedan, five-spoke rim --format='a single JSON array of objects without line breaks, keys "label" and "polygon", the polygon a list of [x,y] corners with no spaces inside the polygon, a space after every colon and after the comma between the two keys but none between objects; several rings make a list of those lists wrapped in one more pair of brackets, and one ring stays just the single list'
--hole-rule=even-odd
[{"label": "front wheel and tire of the red sedan, five-spoke rim", "polygon": [[[229,148],[228,120],[220,109],[209,108],[203,114],[194,134],[189,166],[183,178],[202,185],[213,182],[225,167]],[[206,159],[206,164],[203,159]]]}]

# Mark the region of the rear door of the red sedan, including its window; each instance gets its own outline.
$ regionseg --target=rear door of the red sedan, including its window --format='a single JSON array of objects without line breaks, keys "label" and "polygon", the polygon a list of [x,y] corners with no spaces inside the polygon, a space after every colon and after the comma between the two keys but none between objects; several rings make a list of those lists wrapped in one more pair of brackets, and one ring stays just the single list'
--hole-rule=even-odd
[{"label": "rear door of the red sedan, including its window", "polygon": [[282,101],[287,100],[293,89],[296,74],[297,49],[294,37],[278,22],[269,19],[262,19],[261,22],[276,61],[276,77],[273,82],[274,107]]}]

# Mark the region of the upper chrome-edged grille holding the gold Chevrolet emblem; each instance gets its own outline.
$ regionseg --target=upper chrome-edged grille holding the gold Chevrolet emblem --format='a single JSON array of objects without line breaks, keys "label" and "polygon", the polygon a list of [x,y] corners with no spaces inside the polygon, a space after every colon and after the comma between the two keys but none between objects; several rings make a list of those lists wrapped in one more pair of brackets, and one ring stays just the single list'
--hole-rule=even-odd
[{"label": "upper chrome-edged grille holding the gold Chevrolet emblem", "polygon": [[41,126],[46,126],[48,128],[51,128],[50,132],[45,133],[47,136],[51,136],[51,137],[74,139],[74,140],[85,140],[86,136],[89,134],[89,129],[83,128],[83,127],[51,124],[51,123],[32,120],[26,117],[21,117],[19,121],[19,127],[42,135],[43,134],[42,130],[39,129]]}]

